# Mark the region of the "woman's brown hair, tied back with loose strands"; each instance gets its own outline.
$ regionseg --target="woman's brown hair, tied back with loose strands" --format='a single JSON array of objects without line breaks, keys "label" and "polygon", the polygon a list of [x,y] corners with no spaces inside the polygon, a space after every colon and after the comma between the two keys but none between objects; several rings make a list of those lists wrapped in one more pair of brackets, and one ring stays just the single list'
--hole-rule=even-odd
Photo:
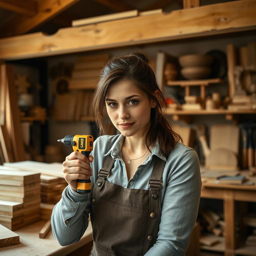
[{"label": "woman's brown hair, tied back with loose strands", "polygon": [[[139,52],[123,57],[111,58],[100,74],[100,81],[96,86],[93,105],[96,124],[100,129],[100,134],[104,134],[102,126],[103,118],[107,116],[105,98],[110,86],[120,80],[133,81],[140,90],[153,99],[155,108],[151,108],[150,128],[146,134],[146,146],[150,150],[156,140],[165,156],[168,156],[175,144],[181,140],[180,135],[172,130],[171,124],[162,113],[162,105],[166,108],[164,96],[156,82],[156,76],[148,65],[148,58]],[[155,90],[160,91],[160,100],[154,96]]]}]

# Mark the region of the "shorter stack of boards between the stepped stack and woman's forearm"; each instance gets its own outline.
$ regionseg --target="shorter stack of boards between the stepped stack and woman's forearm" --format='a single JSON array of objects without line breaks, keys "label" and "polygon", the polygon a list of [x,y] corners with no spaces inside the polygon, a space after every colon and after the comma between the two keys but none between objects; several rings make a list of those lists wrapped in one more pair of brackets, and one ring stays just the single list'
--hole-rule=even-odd
[{"label": "shorter stack of boards between the stepped stack and woman's forearm", "polygon": [[56,204],[67,185],[63,178],[41,174],[41,202]]}]

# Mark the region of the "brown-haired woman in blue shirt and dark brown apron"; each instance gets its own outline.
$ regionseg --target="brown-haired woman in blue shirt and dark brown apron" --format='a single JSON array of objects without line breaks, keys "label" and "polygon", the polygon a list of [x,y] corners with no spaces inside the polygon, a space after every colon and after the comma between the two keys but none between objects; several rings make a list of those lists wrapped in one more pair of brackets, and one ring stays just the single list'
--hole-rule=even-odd
[{"label": "brown-haired woman in blue shirt and dark brown apron", "polygon": [[[108,115],[120,134],[100,136],[89,156],[72,152],[63,163],[69,186],[52,213],[61,245],[93,226],[92,256],[184,255],[200,200],[196,152],[179,142],[162,115],[164,98],[147,58],[112,58],[101,72],[94,112],[102,130]],[[92,176],[92,192],[76,179]]]}]

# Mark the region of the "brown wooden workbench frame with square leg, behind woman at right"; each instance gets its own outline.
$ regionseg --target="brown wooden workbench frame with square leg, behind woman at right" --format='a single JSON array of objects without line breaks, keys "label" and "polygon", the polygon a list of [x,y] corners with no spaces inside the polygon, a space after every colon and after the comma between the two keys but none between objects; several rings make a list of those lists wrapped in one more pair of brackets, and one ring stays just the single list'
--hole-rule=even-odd
[{"label": "brown wooden workbench frame with square leg, behind woman at right", "polygon": [[[255,180],[256,178],[252,178]],[[255,182],[256,184],[256,182]],[[202,198],[222,199],[225,221],[224,255],[256,255],[256,245],[237,248],[235,230],[235,202],[256,202],[256,185],[226,185],[205,182],[202,184]],[[218,248],[216,249],[218,251]]]}]

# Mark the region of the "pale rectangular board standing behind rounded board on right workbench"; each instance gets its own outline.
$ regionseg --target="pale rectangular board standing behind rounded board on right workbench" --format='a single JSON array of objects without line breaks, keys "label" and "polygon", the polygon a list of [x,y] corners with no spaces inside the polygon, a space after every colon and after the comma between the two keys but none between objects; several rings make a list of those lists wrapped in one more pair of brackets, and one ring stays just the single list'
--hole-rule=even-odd
[{"label": "pale rectangular board standing behind rounded board on right workbench", "polygon": [[214,124],[210,127],[210,149],[225,148],[238,155],[239,127],[234,124]]}]

